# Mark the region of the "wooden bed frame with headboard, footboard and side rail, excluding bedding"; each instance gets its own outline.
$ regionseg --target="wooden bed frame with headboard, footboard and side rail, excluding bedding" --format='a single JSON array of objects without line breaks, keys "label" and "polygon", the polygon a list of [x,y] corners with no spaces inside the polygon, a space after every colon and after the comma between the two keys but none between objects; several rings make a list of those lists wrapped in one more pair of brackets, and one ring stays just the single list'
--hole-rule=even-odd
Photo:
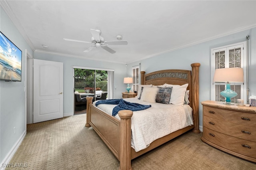
[{"label": "wooden bed frame with headboard, footboard and side rail, excluding bedding", "polygon": [[132,122],[133,112],[122,110],[118,112],[120,118],[116,119],[102,109],[92,104],[93,97],[87,97],[86,127],[92,127],[108,148],[120,161],[120,170],[131,170],[131,160],[168,142],[169,140],[192,130],[200,133],[198,125],[199,110],[199,67],[200,63],[192,63],[192,70],[169,69],[145,73],[141,71],[141,85],[184,85],[188,83],[189,105],[192,108],[193,125],[181,128],[161,138],[154,140],[150,145],[136,152],[132,147]]}]

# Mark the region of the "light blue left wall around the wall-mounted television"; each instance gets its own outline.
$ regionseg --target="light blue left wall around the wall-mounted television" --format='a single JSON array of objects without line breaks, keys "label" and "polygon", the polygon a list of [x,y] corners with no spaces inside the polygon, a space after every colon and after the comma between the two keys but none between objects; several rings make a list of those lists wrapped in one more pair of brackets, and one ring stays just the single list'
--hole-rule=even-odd
[{"label": "light blue left wall around the wall-mounted television", "polygon": [[[2,7],[0,8],[0,30],[22,51],[22,81],[0,81],[0,162],[2,162],[8,152],[26,132],[24,92],[26,73],[25,49],[31,55],[34,53]],[[13,134],[14,127],[16,127],[15,134]]]}]

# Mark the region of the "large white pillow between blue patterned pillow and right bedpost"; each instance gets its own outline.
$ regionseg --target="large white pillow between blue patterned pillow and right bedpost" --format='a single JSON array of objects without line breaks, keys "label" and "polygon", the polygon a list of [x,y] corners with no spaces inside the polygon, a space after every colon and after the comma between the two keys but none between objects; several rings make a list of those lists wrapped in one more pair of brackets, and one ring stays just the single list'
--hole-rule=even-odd
[{"label": "large white pillow between blue patterned pillow and right bedpost", "polygon": [[173,105],[183,105],[185,99],[185,92],[188,87],[188,83],[184,85],[169,85],[166,84],[166,87],[172,87],[170,104]]}]

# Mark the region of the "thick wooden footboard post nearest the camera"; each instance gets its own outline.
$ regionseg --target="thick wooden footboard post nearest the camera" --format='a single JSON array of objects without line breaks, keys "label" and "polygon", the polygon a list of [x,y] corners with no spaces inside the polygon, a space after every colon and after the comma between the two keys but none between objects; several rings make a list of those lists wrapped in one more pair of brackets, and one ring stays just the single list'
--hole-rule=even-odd
[{"label": "thick wooden footboard post nearest the camera", "polygon": [[120,117],[120,152],[119,170],[132,170],[131,166],[131,117],[133,112],[130,110],[122,110],[118,112]]}]

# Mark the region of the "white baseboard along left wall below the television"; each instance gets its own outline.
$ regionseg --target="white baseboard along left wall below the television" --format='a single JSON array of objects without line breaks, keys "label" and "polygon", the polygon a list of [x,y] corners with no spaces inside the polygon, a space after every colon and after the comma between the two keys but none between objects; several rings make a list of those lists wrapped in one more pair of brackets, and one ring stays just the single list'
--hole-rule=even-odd
[{"label": "white baseboard along left wall below the television", "polygon": [[18,141],[14,144],[14,146],[12,147],[10,152],[4,158],[3,162],[1,162],[0,170],[4,170],[6,168],[6,166],[8,166],[8,163],[10,162],[12,157],[14,156],[15,152],[18,150],[18,148],[19,148],[21,142],[23,141],[23,139],[25,138],[26,134],[27,134],[27,131],[25,130],[23,132],[23,134],[20,136],[20,138],[18,139]]}]

